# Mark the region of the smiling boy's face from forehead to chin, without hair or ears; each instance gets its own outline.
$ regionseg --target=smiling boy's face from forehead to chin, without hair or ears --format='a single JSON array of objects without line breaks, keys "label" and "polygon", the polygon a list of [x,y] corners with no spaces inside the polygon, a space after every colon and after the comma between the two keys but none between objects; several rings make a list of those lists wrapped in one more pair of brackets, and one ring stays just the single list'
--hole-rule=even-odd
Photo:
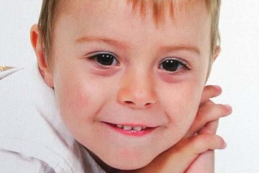
[{"label": "smiling boy's face from forehead to chin, without hair or ears", "polygon": [[203,1],[178,7],[157,27],[151,10],[143,17],[127,1],[77,0],[56,21],[51,75],[61,115],[112,167],[145,166],[194,120],[211,19]]}]

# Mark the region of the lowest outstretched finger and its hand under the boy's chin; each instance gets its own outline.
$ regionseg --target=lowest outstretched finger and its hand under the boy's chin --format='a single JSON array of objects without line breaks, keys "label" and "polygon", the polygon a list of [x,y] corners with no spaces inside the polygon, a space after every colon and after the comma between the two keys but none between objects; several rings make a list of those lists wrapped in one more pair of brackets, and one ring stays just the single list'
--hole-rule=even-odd
[{"label": "lowest outstretched finger and its hand under the boy's chin", "polygon": [[202,134],[193,136],[187,140],[181,140],[178,144],[157,156],[149,165],[130,173],[182,173],[201,153],[208,150],[225,148],[225,141],[217,135]]}]

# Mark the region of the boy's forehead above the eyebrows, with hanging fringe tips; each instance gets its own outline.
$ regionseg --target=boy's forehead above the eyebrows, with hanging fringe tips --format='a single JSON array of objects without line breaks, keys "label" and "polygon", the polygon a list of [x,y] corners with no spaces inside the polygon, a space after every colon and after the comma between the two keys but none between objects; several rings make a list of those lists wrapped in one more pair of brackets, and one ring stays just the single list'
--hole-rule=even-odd
[{"label": "boy's forehead above the eyebrows, with hanging fringe tips", "polygon": [[[64,32],[64,35],[67,35],[65,32],[68,29],[72,29],[70,34],[73,39],[87,35],[105,35],[137,44],[148,40],[167,45],[198,45],[201,42],[209,45],[211,19],[204,1],[157,2],[66,1],[56,26],[59,28],[58,32]],[[132,36],[135,36],[135,40],[132,40]],[[204,47],[202,43],[200,47]]]}]

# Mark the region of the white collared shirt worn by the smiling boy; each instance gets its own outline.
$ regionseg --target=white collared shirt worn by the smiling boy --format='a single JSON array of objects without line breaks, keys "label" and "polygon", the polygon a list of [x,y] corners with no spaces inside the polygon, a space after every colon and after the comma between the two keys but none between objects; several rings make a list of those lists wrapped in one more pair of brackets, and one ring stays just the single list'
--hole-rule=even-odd
[{"label": "white collared shirt worn by the smiling boy", "polygon": [[66,129],[36,64],[0,79],[0,173],[104,172]]}]

